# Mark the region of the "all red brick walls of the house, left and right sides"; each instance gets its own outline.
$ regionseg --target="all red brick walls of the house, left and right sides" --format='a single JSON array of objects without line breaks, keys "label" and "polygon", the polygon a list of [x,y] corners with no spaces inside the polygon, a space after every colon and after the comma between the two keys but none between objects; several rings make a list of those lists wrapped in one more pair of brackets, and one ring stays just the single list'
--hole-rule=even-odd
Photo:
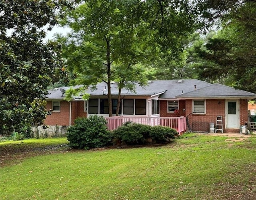
[{"label": "all red brick walls of the house, left and right sides", "polygon": [[[72,115],[71,124],[77,117],[86,117],[84,112],[83,101],[72,101]],[[52,101],[48,101],[47,109],[52,109]],[[69,125],[69,108],[70,103],[67,101],[60,101],[60,112],[52,112],[51,115],[46,116],[46,125]],[[183,111],[185,109],[185,111]],[[209,123],[216,123],[216,116],[222,116],[224,132],[239,132],[239,129],[225,129],[225,100],[209,99],[206,100],[206,114],[191,114],[192,100],[180,100],[179,112],[168,113],[167,101],[160,101],[160,117],[180,117],[188,116],[190,127],[194,131],[209,131]],[[246,99],[240,99],[240,125],[248,121],[248,102]],[[193,130],[193,129],[192,129]]]}]

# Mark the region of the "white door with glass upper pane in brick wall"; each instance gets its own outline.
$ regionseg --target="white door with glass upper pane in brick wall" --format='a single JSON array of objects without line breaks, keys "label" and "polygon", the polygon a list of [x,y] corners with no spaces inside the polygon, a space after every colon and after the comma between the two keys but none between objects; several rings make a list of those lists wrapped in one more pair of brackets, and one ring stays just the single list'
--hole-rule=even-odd
[{"label": "white door with glass upper pane in brick wall", "polygon": [[226,100],[226,127],[239,128],[238,100]]}]

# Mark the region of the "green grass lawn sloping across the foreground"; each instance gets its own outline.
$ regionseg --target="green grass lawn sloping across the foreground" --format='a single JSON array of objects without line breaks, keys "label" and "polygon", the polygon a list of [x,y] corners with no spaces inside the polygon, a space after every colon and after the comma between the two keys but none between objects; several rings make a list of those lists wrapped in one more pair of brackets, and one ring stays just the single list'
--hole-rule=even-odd
[{"label": "green grass lawn sloping across the foreground", "polygon": [[163,146],[61,149],[18,161],[16,152],[0,168],[0,199],[256,199],[255,147],[255,136],[190,133]]}]

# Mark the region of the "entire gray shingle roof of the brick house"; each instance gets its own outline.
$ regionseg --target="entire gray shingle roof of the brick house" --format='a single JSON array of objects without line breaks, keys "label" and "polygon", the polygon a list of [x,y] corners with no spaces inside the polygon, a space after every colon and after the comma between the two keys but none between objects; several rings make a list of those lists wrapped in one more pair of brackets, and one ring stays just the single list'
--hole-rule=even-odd
[{"label": "entire gray shingle roof of the brick house", "polygon": [[[195,90],[196,86],[196,90]],[[81,86],[75,86],[75,88]],[[67,90],[70,87],[60,87]],[[63,99],[60,88],[48,90],[48,99]],[[101,96],[108,94],[107,84],[104,82],[98,83],[95,90],[88,88],[85,93],[90,96]],[[113,96],[118,95],[117,84],[111,84],[111,93]],[[161,94],[162,93],[162,94]],[[220,85],[210,84],[197,79],[182,79],[182,80],[151,80],[147,86],[141,87],[136,84],[136,93],[131,92],[125,88],[122,89],[122,95],[132,96],[152,96],[160,94],[159,99],[175,99],[175,98],[200,98],[200,97],[223,97],[223,96],[242,96],[256,98],[256,95],[251,92],[243,90],[235,90],[234,88]],[[74,96],[74,98],[81,98],[81,96]]]}]

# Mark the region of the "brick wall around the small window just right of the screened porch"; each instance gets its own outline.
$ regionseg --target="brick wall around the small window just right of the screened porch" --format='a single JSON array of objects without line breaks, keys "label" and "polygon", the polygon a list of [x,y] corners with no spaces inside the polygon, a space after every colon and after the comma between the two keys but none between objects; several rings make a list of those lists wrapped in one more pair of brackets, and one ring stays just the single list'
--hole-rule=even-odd
[{"label": "brick wall around the small window just right of the screened porch", "polygon": [[181,117],[185,116],[186,111],[183,111],[185,109],[185,101],[179,101],[179,112],[178,113],[172,113],[167,112],[167,101],[160,100],[160,117]]}]

